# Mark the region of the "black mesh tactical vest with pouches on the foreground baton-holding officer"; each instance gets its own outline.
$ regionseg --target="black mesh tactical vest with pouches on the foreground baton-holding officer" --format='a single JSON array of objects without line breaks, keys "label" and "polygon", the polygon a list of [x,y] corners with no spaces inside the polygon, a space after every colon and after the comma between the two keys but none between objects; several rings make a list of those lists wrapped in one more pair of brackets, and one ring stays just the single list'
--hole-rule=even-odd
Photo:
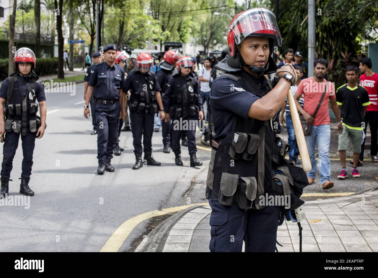
[{"label": "black mesh tactical vest with pouches on the foreground baton-holding officer", "polygon": [[[254,92],[260,97],[264,95],[259,86],[252,88],[250,83],[245,82],[251,77],[240,72],[238,74],[242,77],[238,81],[244,90]],[[209,117],[209,136],[212,142],[215,131],[211,107]],[[239,134],[236,142],[235,133]],[[212,149],[206,198],[219,201],[223,205],[238,204],[243,209],[262,208],[259,205],[259,196],[265,196],[265,193],[273,195],[274,170],[271,159],[275,137],[270,120],[236,116],[231,132],[220,142],[216,151]]]}]

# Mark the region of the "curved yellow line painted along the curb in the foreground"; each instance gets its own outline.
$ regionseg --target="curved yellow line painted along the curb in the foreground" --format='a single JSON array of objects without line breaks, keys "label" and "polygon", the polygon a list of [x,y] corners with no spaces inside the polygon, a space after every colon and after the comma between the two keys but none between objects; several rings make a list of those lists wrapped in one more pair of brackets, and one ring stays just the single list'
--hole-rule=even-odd
[{"label": "curved yellow line painted along the curb in the foreground", "polygon": [[165,215],[167,213],[180,212],[181,210],[192,207],[194,205],[209,205],[209,203],[197,203],[191,205],[182,205],[179,207],[163,208],[162,210],[152,210],[150,212],[134,216],[133,218],[130,218],[119,225],[119,227],[114,231],[114,233],[110,236],[104,246],[102,246],[99,252],[118,252],[119,248],[121,248],[123,242],[130,235],[136,225],[146,219],[152,218],[154,216]]}]

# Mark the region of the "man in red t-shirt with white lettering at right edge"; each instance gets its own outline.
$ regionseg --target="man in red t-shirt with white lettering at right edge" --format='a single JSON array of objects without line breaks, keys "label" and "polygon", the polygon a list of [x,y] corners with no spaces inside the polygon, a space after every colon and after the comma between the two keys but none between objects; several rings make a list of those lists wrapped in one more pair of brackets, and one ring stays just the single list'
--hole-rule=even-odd
[{"label": "man in red t-shirt with white lettering at right edge", "polygon": [[[359,77],[359,84],[366,88],[371,102],[366,109],[364,133],[366,134],[367,123],[369,123],[370,133],[372,135],[370,155],[372,156],[373,162],[378,162],[378,74],[372,71],[372,60],[368,57],[361,59],[361,62],[359,62],[359,70],[363,73]],[[358,166],[362,166],[364,161],[364,150],[365,139],[361,145]]]}]

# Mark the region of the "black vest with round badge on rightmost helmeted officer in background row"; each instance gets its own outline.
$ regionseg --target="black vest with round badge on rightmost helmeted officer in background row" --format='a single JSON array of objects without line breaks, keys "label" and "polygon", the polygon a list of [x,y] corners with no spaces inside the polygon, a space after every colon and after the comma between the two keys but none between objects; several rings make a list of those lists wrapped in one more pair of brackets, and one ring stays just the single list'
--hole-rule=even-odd
[{"label": "black vest with round badge on rightmost helmeted officer in background row", "polygon": [[173,76],[172,85],[172,99],[169,108],[169,115],[171,117],[196,117],[199,113],[199,108],[195,105],[196,96],[195,86],[197,80],[189,74],[185,79],[181,74]]}]

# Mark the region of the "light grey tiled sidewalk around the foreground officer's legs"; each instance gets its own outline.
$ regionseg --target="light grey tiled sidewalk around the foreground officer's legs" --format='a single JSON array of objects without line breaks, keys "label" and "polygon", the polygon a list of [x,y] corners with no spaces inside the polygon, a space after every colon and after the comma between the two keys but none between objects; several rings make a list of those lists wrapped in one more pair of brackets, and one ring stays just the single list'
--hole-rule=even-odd
[{"label": "light grey tiled sidewalk around the foreground officer's legs", "polygon": [[[378,191],[308,201],[304,207],[303,252],[378,252]],[[178,218],[163,252],[210,252],[210,213],[209,206],[199,206]],[[277,241],[279,252],[299,252],[297,224],[279,226]]]}]

